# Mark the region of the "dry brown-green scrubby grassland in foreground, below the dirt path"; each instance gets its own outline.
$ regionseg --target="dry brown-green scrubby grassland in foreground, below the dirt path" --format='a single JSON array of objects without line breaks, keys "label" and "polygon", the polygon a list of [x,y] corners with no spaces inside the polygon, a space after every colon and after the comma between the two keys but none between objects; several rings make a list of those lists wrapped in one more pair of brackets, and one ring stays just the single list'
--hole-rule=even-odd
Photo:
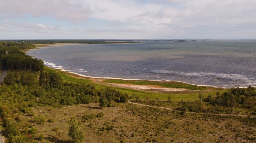
[{"label": "dry brown-green scrubby grassland in foreground, below the dirt path", "polygon": [[[22,117],[22,124],[28,123],[43,133],[49,142],[66,142],[68,120],[75,116],[80,122],[84,142],[250,142],[256,136],[253,127],[240,121],[240,117],[222,117],[180,114],[164,109],[141,107],[131,104],[117,104],[117,107],[101,109],[98,104],[65,106],[62,108],[35,107],[39,115],[54,123],[39,125],[34,117]],[[85,114],[103,112],[102,118],[83,120]],[[242,118],[242,117],[241,117]],[[255,125],[254,125],[255,126]],[[246,137],[246,132],[252,134]]]}]

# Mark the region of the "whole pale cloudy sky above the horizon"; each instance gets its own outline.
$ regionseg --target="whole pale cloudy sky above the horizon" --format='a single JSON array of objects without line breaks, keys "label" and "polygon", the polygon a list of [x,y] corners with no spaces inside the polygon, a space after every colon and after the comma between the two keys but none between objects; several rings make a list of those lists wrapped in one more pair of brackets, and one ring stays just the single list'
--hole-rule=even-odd
[{"label": "whole pale cloudy sky above the horizon", "polygon": [[0,39],[256,39],[256,0],[1,0]]}]

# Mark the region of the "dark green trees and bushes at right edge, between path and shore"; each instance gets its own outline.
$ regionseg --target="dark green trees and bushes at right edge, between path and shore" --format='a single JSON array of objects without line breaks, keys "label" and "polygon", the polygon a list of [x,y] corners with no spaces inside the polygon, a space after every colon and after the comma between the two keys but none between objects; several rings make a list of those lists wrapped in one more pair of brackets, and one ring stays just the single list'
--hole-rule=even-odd
[{"label": "dark green trees and bushes at right edge, between path and shore", "polygon": [[[200,92],[198,97],[200,101],[195,102],[181,102],[180,107],[177,109],[185,113],[186,110],[191,112],[204,112],[204,113],[232,113],[239,114],[235,111],[236,107],[244,108],[246,110],[254,111],[251,114],[255,115],[256,109],[256,90],[254,87],[248,88],[232,88],[227,92],[216,92],[216,97],[209,95],[204,98]],[[205,102],[202,102],[205,101]]]}]

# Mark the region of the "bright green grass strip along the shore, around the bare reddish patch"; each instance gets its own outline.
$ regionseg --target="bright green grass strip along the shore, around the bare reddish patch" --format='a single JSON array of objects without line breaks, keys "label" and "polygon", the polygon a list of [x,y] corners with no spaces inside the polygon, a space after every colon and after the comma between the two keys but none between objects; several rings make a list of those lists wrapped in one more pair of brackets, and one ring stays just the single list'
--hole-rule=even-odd
[{"label": "bright green grass strip along the shore, around the bare reddish patch", "polygon": [[[199,90],[203,91],[203,95],[205,97],[207,97],[208,95],[215,97],[215,94],[217,91],[219,91],[220,93],[227,91],[227,89],[196,86],[196,85],[190,85],[190,84],[186,84],[186,83],[182,83],[182,82],[157,82],[157,81],[133,81],[133,80],[132,81],[104,80],[102,82],[94,82],[93,80],[90,80],[90,79],[77,78],[79,76],[76,74],[60,71],[58,69],[52,69],[52,68],[45,67],[45,70],[59,72],[61,77],[64,79],[64,82],[92,84],[95,86],[96,89],[102,89],[102,88],[109,87],[112,89],[117,89],[121,93],[124,93],[124,94],[127,93],[128,96],[132,96],[132,95],[140,96],[141,100],[145,100],[146,97],[149,97],[150,100],[155,100],[156,98],[158,98],[159,100],[168,100],[168,96],[170,95],[172,98],[172,101],[181,101],[181,100],[194,101],[194,100],[199,100],[199,98],[198,98]],[[141,90],[135,90],[135,89],[112,87],[112,86],[106,85],[104,83],[128,83],[128,84],[135,84],[135,85],[158,85],[161,87],[185,88],[185,89],[191,89],[191,90],[184,91],[184,92],[177,91],[177,92],[172,92],[172,93],[165,93],[165,92],[156,93],[156,92],[150,92],[150,91],[141,91]]]}]

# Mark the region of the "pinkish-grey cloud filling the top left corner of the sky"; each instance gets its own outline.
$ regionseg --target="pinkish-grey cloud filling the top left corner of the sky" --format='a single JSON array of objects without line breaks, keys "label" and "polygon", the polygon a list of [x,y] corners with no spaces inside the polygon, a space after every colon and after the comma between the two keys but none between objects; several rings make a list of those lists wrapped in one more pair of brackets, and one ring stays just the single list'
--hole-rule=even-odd
[{"label": "pinkish-grey cloud filling the top left corner of the sky", "polygon": [[90,13],[90,8],[82,0],[2,0],[0,5],[1,13],[52,15],[71,20],[84,20]]}]

